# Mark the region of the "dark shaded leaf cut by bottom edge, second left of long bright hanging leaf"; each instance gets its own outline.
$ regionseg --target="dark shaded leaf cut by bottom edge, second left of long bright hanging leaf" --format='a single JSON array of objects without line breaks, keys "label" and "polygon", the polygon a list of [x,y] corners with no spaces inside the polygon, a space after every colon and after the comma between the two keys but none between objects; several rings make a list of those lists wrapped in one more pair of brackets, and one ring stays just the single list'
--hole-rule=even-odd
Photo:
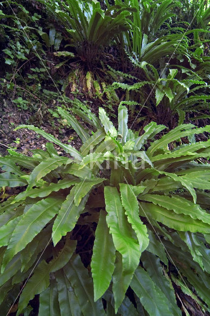
[{"label": "dark shaded leaf cut by bottom edge, second left of long bright hanging leaf", "polygon": [[[66,265],[66,269],[69,269],[68,264]],[[55,276],[61,316],[66,316],[66,311],[68,311],[69,316],[83,316],[77,296],[64,270],[56,271]]]}]

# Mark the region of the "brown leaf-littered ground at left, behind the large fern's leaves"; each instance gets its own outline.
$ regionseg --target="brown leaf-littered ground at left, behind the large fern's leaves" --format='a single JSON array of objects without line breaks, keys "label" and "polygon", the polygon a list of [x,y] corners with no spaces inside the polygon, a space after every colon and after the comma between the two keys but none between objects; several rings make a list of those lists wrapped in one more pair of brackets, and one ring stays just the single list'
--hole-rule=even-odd
[{"label": "brown leaf-littered ground at left, behind the large fern's leaves", "polygon": [[[35,113],[36,114],[36,113]],[[31,124],[33,113],[30,110],[20,110],[12,103],[4,103],[4,107],[0,109],[0,155],[5,156],[8,148],[13,148],[18,152],[21,152],[27,156],[32,155],[32,150],[45,149],[47,140],[36,132],[21,128],[14,130],[21,124]],[[34,120],[34,118],[33,118]],[[45,132],[52,134],[55,138],[58,138],[65,144],[70,144],[76,149],[79,149],[82,145],[80,138],[70,129],[69,126],[60,127],[60,122],[56,118],[47,115],[42,116],[42,122],[33,122],[35,126],[39,126]],[[57,145],[56,150],[60,155],[64,154],[64,151]]]}]

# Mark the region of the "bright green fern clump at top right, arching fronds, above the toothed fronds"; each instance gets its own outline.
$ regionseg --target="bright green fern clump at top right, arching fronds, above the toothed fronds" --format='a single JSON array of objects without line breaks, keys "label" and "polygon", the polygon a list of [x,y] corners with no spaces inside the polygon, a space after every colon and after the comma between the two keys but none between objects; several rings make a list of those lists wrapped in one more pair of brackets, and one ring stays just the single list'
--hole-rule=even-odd
[{"label": "bright green fern clump at top right, arching fronds, above the toothed fronds", "polygon": [[174,17],[174,7],[180,6],[180,2],[126,0],[125,3],[135,9],[127,19],[131,25],[130,30],[124,36],[119,36],[119,42],[127,53],[133,53],[139,61],[156,66],[159,66],[161,59],[169,58],[174,51],[176,55],[180,52],[187,55],[187,38],[183,35],[185,30],[173,29],[169,23],[166,28],[167,21]]}]

